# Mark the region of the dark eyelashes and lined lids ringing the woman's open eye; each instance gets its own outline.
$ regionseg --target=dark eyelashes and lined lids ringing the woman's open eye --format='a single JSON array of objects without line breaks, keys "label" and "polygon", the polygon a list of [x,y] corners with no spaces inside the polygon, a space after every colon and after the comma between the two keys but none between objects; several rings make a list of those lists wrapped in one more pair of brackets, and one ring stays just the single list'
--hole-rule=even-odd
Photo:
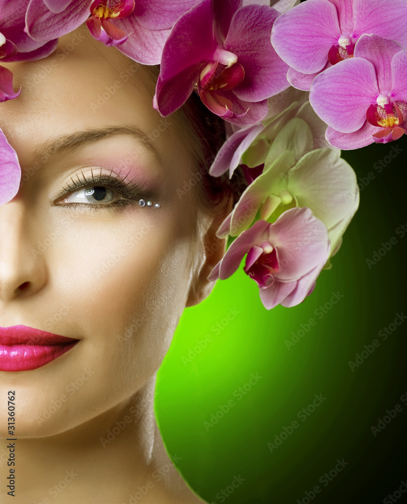
[{"label": "dark eyelashes and lined lids ringing the woman's open eye", "polygon": [[140,199],[151,200],[154,199],[154,194],[151,190],[137,182],[125,181],[124,178],[118,178],[112,175],[94,175],[92,172],[91,177],[85,177],[82,173],[81,175],[77,175],[77,179],[74,180],[71,178],[72,183],[67,183],[61,193],[57,196],[57,200],[61,198],[68,198],[72,196],[75,192],[80,189],[87,189],[90,187],[105,187],[110,189],[116,193],[118,193],[122,199],[117,200],[111,203],[63,203],[60,206],[66,206],[69,208],[76,208],[78,205],[80,207],[86,207],[88,210],[99,210],[101,208],[104,209],[118,209],[127,207],[129,205],[138,204]]}]

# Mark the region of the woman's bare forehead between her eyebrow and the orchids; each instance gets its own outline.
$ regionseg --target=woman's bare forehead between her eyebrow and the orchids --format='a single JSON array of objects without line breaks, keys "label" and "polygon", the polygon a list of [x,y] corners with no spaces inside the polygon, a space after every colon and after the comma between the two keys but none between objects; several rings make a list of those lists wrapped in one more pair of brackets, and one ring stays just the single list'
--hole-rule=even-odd
[{"label": "woman's bare forehead between her eyebrow and the orchids", "polygon": [[152,72],[84,26],[61,37],[46,58],[2,65],[14,74],[14,90],[21,86],[17,99],[0,103],[0,127],[22,165],[51,138],[122,124],[137,126],[162,155],[177,143],[182,151],[175,119],[153,109]]}]

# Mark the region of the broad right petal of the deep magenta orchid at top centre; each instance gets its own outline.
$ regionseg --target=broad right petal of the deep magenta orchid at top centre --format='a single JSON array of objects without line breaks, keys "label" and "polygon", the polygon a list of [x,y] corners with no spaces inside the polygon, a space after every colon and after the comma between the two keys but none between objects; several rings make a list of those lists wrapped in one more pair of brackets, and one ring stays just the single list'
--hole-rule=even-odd
[{"label": "broad right petal of the deep magenta orchid at top centre", "polygon": [[279,12],[267,6],[239,9],[232,18],[224,47],[237,55],[244,79],[234,93],[245,101],[258,102],[288,88],[288,65],[270,42],[270,31]]}]

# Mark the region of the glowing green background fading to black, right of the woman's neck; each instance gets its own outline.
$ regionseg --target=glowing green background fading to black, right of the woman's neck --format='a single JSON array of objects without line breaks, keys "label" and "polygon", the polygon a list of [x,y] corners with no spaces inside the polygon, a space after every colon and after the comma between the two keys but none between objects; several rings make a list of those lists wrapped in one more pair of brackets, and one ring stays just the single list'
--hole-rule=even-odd
[{"label": "glowing green background fading to black, right of the woman's neck", "polygon": [[[394,159],[386,157],[390,152]],[[407,405],[400,400],[407,392],[407,322],[386,340],[378,336],[397,313],[407,316],[407,235],[396,234],[407,224],[407,138],[342,154],[359,177],[360,209],[314,292],[298,306],[267,311],[240,268],[200,305],[185,309],[160,368],[156,414],[168,453],[208,502],[373,504],[397,497],[407,479]],[[380,160],[387,164],[381,173]],[[366,260],[391,237],[397,243],[369,268]],[[343,297],[330,305],[332,292]],[[315,314],[320,305],[322,318]],[[314,327],[288,349],[285,341],[301,325],[307,329],[310,318]],[[212,341],[199,345],[207,335]],[[352,370],[349,361],[374,339],[380,346]],[[245,395],[234,394],[251,373],[261,379],[246,385]],[[302,421],[297,413],[315,394],[326,399]],[[210,423],[230,400],[229,411]],[[402,411],[374,436],[371,427],[396,404]],[[271,452],[267,443],[293,421],[298,427]],[[319,480],[337,459],[347,465],[324,486]],[[320,493],[307,497],[315,485]],[[397,501],[406,501],[404,495]]]}]

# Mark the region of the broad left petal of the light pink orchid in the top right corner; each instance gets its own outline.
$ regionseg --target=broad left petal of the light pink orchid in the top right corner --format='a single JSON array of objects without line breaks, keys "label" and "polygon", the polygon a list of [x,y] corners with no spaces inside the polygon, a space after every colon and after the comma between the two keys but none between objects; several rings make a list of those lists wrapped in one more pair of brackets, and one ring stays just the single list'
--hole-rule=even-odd
[{"label": "broad left petal of the light pink orchid in the top right corner", "polygon": [[337,43],[340,35],[334,5],[328,0],[313,0],[277,18],[272,44],[290,67],[304,74],[315,74],[326,65],[329,48]]}]

